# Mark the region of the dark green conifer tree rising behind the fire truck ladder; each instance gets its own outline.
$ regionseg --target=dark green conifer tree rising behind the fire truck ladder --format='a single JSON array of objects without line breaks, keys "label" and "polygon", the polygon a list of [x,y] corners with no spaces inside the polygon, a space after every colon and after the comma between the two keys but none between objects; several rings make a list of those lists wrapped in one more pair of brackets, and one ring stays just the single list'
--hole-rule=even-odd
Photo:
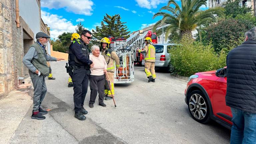
[{"label": "dark green conifer tree rising behind the fire truck ladder", "polygon": [[121,22],[121,17],[119,14],[110,16],[106,14],[103,21],[101,21],[101,26],[97,26],[95,30],[92,30],[93,36],[98,40],[103,37],[124,37],[128,38],[130,31],[128,31],[126,22]]}]

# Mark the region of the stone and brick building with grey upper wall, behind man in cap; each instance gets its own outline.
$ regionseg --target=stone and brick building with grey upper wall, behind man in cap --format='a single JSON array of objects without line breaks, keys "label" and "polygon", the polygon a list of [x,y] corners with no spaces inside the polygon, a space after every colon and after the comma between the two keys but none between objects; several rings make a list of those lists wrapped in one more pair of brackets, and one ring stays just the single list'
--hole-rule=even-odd
[{"label": "stone and brick building with grey upper wall, behind man in cap", "polygon": [[36,33],[49,31],[42,23],[40,0],[0,0],[0,99],[29,76],[22,59]]}]

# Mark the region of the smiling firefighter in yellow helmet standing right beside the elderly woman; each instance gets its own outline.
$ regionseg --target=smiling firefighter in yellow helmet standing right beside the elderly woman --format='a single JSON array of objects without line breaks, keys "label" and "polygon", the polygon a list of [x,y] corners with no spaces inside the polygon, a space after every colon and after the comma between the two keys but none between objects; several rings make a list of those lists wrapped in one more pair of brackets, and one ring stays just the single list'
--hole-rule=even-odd
[{"label": "smiling firefighter in yellow helmet standing right beside the elderly woman", "polygon": [[[120,61],[119,61],[119,58],[118,58],[116,52],[113,51],[113,49],[111,49],[109,47],[110,40],[108,38],[106,38],[106,37],[102,38],[100,41],[100,45],[102,47],[101,54],[104,56],[104,58],[107,62],[106,77],[108,78],[109,85],[110,85],[110,87],[109,87],[108,83],[107,83],[107,79],[106,79],[104,97],[105,97],[105,100],[110,100],[110,99],[112,99],[111,91],[112,91],[113,96],[115,94],[115,90],[114,90],[115,65],[116,65],[116,68],[119,68]],[[111,91],[110,91],[110,88],[111,88]]]}]

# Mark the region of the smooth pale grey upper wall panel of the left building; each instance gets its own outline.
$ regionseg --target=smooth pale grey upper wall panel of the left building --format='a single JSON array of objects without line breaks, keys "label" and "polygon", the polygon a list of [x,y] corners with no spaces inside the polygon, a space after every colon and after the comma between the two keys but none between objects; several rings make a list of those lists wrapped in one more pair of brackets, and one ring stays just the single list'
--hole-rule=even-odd
[{"label": "smooth pale grey upper wall panel of the left building", "polygon": [[41,14],[37,0],[19,0],[20,16],[29,25],[34,33],[34,40],[36,33],[40,32]]}]

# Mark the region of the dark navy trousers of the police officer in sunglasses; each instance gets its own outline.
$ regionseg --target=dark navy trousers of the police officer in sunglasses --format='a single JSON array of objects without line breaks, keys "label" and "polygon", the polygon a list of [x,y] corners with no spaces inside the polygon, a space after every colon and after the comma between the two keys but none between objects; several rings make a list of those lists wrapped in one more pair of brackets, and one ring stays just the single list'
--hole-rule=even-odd
[{"label": "dark navy trousers of the police officer in sunglasses", "polygon": [[76,69],[71,76],[74,84],[74,106],[75,112],[80,111],[84,105],[84,99],[88,89],[89,74],[87,69]]}]

